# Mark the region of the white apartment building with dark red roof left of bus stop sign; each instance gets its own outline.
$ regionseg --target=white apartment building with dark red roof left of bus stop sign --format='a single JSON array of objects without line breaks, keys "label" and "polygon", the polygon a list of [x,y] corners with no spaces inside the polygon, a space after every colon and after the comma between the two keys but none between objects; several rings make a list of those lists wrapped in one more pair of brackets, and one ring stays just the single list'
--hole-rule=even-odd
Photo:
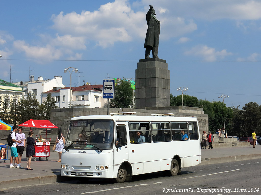
[{"label": "white apartment building with dark red roof left of bus stop sign", "polygon": [[[82,85],[79,87],[72,87],[72,95],[70,102],[70,87],[61,89],[53,88],[43,93],[42,101],[46,100],[48,94],[56,99],[56,106],[58,108],[101,108],[104,106],[102,96],[103,85]],[[107,100],[107,99],[106,99]]]}]

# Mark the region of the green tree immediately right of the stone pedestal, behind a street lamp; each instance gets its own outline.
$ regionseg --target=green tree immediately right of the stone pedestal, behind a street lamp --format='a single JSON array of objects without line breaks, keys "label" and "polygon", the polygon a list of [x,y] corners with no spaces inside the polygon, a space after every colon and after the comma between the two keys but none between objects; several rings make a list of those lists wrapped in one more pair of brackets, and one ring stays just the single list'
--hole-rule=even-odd
[{"label": "green tree immediately right of the stone pedestal, behind a street lamp", "polygon": [[[195,96],[190,96],[183,94],[183,105],[189,107],[198,107],[198,98]],[[170,94],[170,106],[182,106],[182,95],[177,97]]]}]

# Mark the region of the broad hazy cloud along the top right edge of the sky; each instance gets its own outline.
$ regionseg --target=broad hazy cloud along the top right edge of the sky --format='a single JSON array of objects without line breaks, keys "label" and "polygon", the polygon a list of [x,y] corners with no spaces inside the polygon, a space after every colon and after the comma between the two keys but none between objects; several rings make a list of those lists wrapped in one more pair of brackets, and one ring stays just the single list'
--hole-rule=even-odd
[{"label": "broad hazy cloud along the top right edge of the sky", "polygon": [[178,17],[203,20],[259,20],[260,0],[143,0],[144,5],[171,10]]}]

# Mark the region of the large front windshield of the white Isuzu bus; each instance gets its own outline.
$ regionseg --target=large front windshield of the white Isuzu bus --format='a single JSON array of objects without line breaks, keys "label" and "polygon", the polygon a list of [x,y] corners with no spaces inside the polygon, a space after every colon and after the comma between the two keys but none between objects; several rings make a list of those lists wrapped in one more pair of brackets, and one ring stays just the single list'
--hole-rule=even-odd
[{"label": "large front windshield of the white Isuzu bus", "polygon": [[114,121],[71,121],[66,138],[66,149],[112,149]]}]

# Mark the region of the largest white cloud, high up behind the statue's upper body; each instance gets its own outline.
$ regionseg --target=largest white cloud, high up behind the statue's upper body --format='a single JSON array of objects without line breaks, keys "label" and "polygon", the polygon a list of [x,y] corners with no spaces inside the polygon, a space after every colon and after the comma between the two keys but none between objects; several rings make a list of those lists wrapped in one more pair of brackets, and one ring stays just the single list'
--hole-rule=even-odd
[{"label": "largest white cloud, high up behind the statue's upper body", "polygon": [[[145,39],[147,23],[146,12],[134,12],[127,0],[115,0],[113,3],[101,5],[96,11],[82,11],[81,14],[71,12],[52,15],[52,28],[59,34],[86,37],[105,48],[115,42],[129,42]],[[170,16],[167,8],[157,9],[161,21],[162,39],[169,39],[192,32],[197,29],[193,20]],[[158,17],[158,15],[157,15]]]}]

